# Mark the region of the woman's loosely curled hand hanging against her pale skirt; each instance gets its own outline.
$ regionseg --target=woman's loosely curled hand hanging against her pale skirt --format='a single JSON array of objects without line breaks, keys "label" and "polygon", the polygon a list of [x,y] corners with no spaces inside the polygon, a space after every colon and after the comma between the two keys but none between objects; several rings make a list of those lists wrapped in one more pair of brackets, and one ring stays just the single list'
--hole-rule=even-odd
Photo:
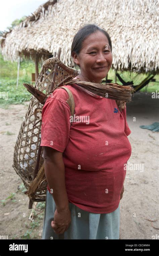
[{"label": "woman's loosely curled hand hanging against her pale skirt", "polygon": [[51,222],[51,227],[56,234],[63,234],[69,227],[71,222],[71,212],[69,206],[65,211],[58,212],[55,210],[54,221]]}]

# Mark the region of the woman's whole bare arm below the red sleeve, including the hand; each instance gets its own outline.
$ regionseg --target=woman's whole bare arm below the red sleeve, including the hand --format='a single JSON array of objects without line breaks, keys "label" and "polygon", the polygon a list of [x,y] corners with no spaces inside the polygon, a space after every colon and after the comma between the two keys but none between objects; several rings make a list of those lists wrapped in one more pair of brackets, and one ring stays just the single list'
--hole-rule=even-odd
[{"label": "woman's whole bare arm below the red sleeve, including the hand", "polygon": [[70,225],[71,213],[65,187],[65,166],[62,152],[44,146],[43,157],[46,180],[50,190],[53,190],[52,195],[56,204],[51,227],[56,234],[63,234]]}]

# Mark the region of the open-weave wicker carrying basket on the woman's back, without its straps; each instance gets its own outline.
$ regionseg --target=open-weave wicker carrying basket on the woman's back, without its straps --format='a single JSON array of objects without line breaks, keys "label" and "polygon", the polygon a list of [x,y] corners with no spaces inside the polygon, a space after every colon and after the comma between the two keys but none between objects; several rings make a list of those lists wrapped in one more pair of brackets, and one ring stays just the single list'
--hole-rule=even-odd
[{"label": "open-weave wicker carrying basket on the woman's back, without its straps", "polygon": [[[47,71],[50,72],[48,75],[46,74]],[[66,66],[57,57],[50,58],[44,62],[35,88],[49,96],[52,85],[54,85],[55,90],[57,85],[69,75],[75,77],[78,75],[78,71]],[[54,83],[53,76],[55,77]],[[43,99],[41,102],[43,102],[43,104],[45,103]],[[29,108],[23,118],[14,147],[12,166],[22,179],[27,190],[30,189],[33,180],[37,176],[38,170],[40,170],[44,163],[44,159],[42,157],[43,147],[40,146],[42,123],[41,114],[43,108],[43,104],[41,102],[35,96],[31,97]],[[44,177],[37,188],[36,193],[32,195],[30,199],[36,202],[45,201],[46,189],[47,182]],[[32,208],[32,205],[29,208]]]}]

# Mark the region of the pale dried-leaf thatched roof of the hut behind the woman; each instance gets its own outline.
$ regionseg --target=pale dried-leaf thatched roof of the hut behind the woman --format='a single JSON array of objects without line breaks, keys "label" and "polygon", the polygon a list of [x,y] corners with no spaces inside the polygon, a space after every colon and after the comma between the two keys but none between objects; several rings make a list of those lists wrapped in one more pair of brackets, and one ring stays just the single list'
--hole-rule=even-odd
[{"label": "pale dried-leaf thatched roof of the hut behind the woman", "polygon": [[73,67],[73,37],[81,26],[94,23],[110,34],[115,69],[158,72],[158,7],[157,0],[48,1],[3,34],[2,54],[14,61],[38,53],[46,60],[61,47],[61,61]]}]

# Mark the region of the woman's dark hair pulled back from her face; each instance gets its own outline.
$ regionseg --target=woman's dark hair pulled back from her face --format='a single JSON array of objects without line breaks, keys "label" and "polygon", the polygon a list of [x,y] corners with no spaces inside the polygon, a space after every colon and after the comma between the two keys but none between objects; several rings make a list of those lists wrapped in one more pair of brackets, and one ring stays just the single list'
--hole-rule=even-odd
[{"label": "woman's dark hair pulled back from her face", "polygon": [[[89,36],[92,33],[95,33],[96,31],[101,31],[103,34],[106,35],[106,37],[108,38],[111,52],[112,52],[112,44],[111,44],[111,39],[108,32],[105,29],[98,27],[96,24],[86,24],[82,26],[80,30],[78,30],[78,32],[75,34],[73,38],[72,45],[71,45],[71,56],[73,52],[75,52],[76,54],[79,54],[82,48],[83,41],[86,39],[87,36]],[[74,66],[76,68],[80,67],[76,63],[74,63]]]}]

